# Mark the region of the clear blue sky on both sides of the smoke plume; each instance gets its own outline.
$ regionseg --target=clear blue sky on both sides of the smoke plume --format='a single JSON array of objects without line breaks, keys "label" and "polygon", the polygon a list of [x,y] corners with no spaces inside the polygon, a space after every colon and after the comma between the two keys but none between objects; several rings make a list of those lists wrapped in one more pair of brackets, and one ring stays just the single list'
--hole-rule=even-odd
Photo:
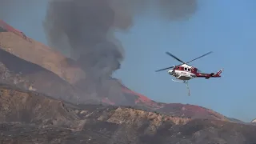
[{"label": "clear blue sky on both sides of the smoke plume", "polygon": [[[10,18],[4,20],[46,43],[42,31],[46,2],[31,2],[34,10],[24,9],[25,5],[19,3]],[[128,33],[117,34],[126,58],[114,75],[130,89],[155,101],[205,106],[249,122],[256,118],[255,26],[254,0],[198,0],[197,12],[182,22],[162,21],[150,12],[140,15]],[[172,82],[166,71],[154,72],[179,64],[166,51],[189,61],[210,50],[214,53],[191,64],[204,72],[224,68],[222,78],[192,79],[190,97],[186,86]]]}]

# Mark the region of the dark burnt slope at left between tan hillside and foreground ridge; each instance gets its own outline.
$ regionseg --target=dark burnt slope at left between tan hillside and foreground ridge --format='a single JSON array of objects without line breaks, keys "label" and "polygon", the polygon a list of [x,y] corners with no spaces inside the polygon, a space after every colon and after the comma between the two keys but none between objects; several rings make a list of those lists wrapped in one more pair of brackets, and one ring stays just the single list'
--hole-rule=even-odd
[{"label": "dark burnt slope at left between tan hillside and foreground ridge", "polygon": [[0,82],[75,102],[75,90],[49,70],[0,50]]}]

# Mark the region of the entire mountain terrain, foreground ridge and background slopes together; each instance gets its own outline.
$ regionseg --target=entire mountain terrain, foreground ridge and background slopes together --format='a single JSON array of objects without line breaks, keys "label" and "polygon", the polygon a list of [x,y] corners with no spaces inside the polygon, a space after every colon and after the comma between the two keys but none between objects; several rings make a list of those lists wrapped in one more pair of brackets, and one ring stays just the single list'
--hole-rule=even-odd
[{"label": "entire mountain terrain, foreground ridge and background slopes together", "polygon": [[122,85],[93,97],[78,63],[0,21],[1,143],[253,144],[256,127],[201,106],[154,102]]}]

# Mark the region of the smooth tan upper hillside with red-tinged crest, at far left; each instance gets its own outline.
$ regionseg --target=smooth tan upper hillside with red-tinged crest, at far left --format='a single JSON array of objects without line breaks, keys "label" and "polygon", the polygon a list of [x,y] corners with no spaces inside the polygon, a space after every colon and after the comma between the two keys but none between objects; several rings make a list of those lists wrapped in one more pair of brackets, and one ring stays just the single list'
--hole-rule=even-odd
[{"label": "smooth tan upper hillside with red-tinged crest, at far left", "polygon": [[0,48],[18,58],[42,66],[52,71],[60,78],[74,84],[78,79],[85,78],[84,72],[75,66],[70,58],[64,57],[50,47],[43,45],[34,39],[26,37],[25,34],[0,20]]}]

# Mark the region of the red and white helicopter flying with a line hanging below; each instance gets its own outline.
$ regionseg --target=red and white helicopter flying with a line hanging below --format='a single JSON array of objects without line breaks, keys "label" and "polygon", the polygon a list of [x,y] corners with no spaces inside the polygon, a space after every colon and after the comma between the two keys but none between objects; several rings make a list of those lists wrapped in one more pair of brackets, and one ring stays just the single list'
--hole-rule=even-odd
[{"label": "red and white helicopter flying with a line hanging below", "polygon": [[[202,56],[198,57],[198,58],[202,58],[208,54],[211,54],[212,51],[203,54]],[[178,60],[178,62],[182,62],[182,64],[180,65],[176,65],[176,66],[170,66],[170,67],[166,67],[164,69],[161,70],[156,70],[156,72],[158,71],[162,71],[162,70],[168,70],[168,69],[172,69],[172,70],[168,70],[168,73],[172,76],[174,76],[176,79],[178,80],[182,80],[182,81],[177,81],[172,79],[174,82],[182,82],[182,83],[186,83],[186,88],[189,90],[189,95],[190,95],[190,88],[188,86],[188,81],[191,78],[219,78],[221,77],[221,73],[222,70],[219,70],[218,73],[214,74],[214,73],[210,73],[210,74],[205,74],[205,73],[201,73],[200,70],[198,70],[198,68],[194,67],[194,66],[190,66],[188,65],[188,63],[193,62],[194,60],[197,60],[198,58],[194,58],[192,60],[190,60],[189,62],[183,62],[182,60],[180,60],[179,58],[175,57],[173,54],[170,54],[169,52],[166,52],[166,54],[170,55],[172,58],[175,58],[176,60]]]}]

